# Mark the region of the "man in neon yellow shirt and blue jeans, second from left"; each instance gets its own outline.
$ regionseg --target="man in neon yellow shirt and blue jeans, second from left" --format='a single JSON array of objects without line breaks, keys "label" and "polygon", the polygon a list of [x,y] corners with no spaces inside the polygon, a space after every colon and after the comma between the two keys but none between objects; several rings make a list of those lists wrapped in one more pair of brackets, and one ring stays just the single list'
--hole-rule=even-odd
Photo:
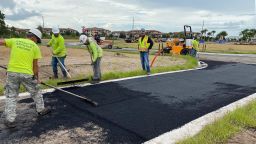
[{"label": "man in neon yellow shirt and blue jeans, second from left", "polygon": [[[61,63],[61,71],[64,78],[67,78],[67,71],[65,67],[65,58],[67,56],[67,50],[65,47],[64,38],[60,34],[58,27],[52,28],[52,39],[48,42],[48,47],[52,47],[52,71],[54,78],[58,78],[58,63]],[[63,67],[62,67],[63,66]]]}]

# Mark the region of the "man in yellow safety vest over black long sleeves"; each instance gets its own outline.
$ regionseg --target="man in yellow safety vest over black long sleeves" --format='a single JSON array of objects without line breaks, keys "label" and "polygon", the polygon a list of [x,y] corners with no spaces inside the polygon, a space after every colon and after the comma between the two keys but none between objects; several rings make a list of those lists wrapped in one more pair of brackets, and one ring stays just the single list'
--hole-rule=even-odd
[{"label": "man in yellow safety vest over black long sleeves", "polygon": [[144,71],[150,75],[149,66],[149,50],[152,49],[154,43],[150,37],[146,35],[146,30],[141,29],[141,37],[139,38],[138,50],[140,52],[141,65]]}]

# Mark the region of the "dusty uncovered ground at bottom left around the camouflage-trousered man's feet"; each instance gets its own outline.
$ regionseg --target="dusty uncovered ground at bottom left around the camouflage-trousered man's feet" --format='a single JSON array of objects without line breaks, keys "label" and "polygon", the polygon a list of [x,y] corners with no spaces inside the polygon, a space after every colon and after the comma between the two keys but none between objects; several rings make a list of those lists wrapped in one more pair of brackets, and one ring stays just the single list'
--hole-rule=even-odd
[{"label": "dusty uncovered ground at bottom left around the camouflage-trousered man's feet", "polygon": [[[23,102],[22,102],[23,101]],[[49,101],[49,99],[46,99]],[[0,114],[4,110],[4,102],[0,101]],[[63,143],[102,143],[106,132],[93,122],[88,122],[80,127],[67,129],[64,126],[58,126],[55,130],[41,133],[38,136],[23,137],[25,134],[33,133],[31,127],[40,121],[35,111],[35,105],[32,100],[20,99],[17,105],[17,128],[10,130],[3,125],[3,118],[0,123],[0,143],[44,143],[44,144],[63,144]],[[51,123],[51,122],[49,122]],[[38,127],[40,129],[40,127]]]}]

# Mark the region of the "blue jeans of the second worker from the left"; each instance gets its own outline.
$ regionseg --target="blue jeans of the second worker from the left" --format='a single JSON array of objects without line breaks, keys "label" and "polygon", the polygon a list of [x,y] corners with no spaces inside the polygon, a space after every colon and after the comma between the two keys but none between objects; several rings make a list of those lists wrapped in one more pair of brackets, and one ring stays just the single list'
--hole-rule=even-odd
[{"label": "blue jeans of the second worker from the left", "polygon": [[[64,65],[64,67],[65,67],[65,63],[64,63],[65,62],[65,58],[66,58],[66,56],[58,57],[58,59]],[[59,63],[58,59],[57,59],[57,57],[52,57],[52,71],[53,71],[54,77],[56,77],[56,78],[58,78],[58,68],[57,68],[57,65]],[[63,77],[67,77],[66,71],[61,66],[60,66],[60,68],[61,68]]]}]

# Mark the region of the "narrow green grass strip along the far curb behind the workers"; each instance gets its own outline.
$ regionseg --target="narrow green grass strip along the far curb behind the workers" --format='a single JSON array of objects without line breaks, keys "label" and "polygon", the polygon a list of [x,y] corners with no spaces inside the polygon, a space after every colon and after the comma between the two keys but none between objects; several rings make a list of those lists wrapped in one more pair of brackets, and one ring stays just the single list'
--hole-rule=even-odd
[{"label": "narrow green grass strip along the far curb behind the workers", "polygon": [[[154,67],[152,68],[152,74],[154,73],[160,73],[160,72],[167,72],[167,71],[176,71],[176,70],[185,70],[185,69],[191,69],[195,68],[197,66],[197,60],[190,56],[177,56],[180,58],[183,58],[186,60],[186,63],[184,65],[178,65],[178,66],[169,66],[169,67]],[[102,75],[102,80],[110,80],[110,79],[118,79],[118,78],[126,78],[126,77],[132,77],[132,76],[139,76],[139,75],[145,75],[146,73],[142,70],[136,70],[131,72],[109,72]],[[89,76],[90,79],[91,76]],[[82,79],[84,76],[76,76],[73,77],[72,80],[76,79]],[[71,80],[71,79],[70,79]],[[62,79],[50,79],[45,81],[45,83],[50,84],[52,86],[57,86],[58,82],[63,81]],[[91,80],[89,80],[90,82]],[[48,87],[41,86],[42,89],[46,89]],[[20,92],[25,92],[25,88],[21,87]],[[4,88],[0,85],[0,95],[3,95]]]}]

